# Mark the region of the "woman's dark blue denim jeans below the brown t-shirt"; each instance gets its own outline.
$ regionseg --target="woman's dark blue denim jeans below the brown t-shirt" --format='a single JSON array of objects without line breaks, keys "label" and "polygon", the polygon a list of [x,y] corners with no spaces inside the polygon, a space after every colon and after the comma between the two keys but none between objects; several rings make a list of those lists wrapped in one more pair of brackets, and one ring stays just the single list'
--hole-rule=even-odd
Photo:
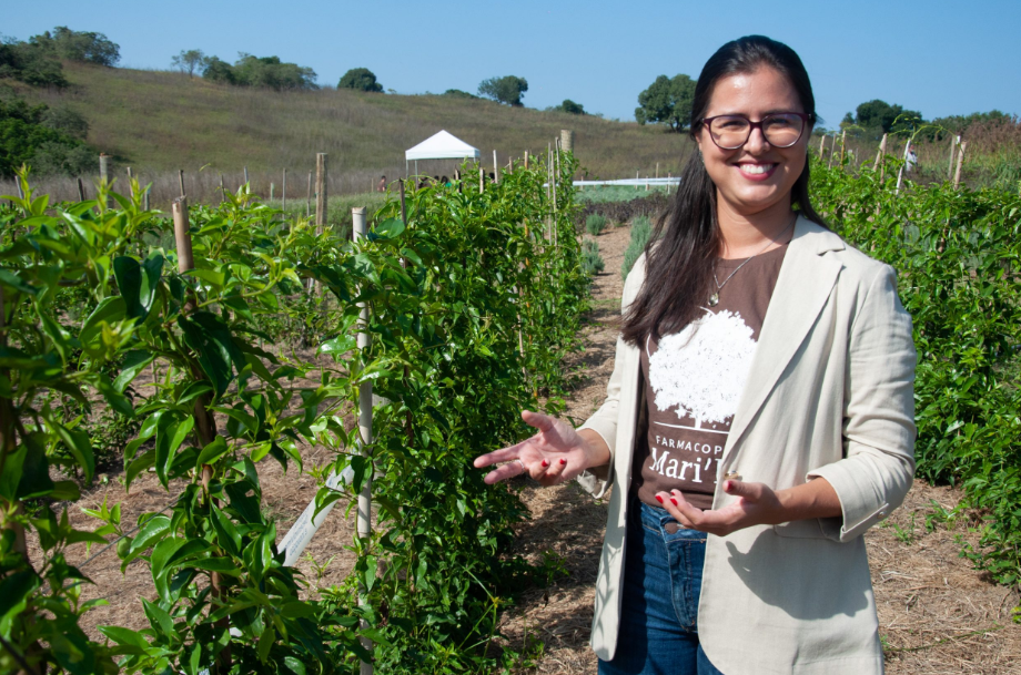
[{"label": "woman's dark blue denim jeans below the brown t-shirt", "polygon": [[624,602],[614,659],[599,675],[721,675],[698,643],[706,534],[630,495]]}]

